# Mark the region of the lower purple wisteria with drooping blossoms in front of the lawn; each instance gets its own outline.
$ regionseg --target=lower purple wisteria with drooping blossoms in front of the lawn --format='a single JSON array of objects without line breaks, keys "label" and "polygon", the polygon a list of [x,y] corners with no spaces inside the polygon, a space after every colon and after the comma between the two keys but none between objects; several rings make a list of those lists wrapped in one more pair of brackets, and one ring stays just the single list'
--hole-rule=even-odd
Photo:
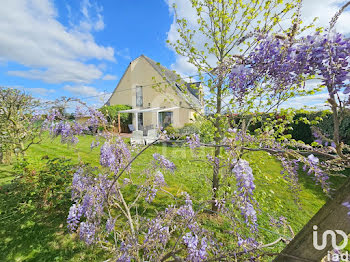
[{"label": "lower purple wisteria with drooping blossoms in front of the lawn", "polygon": [[[103,132],[96,133],[91,144],[92,150],[102,144],[100,167],[81,164],[72,182],[72,206],[67,224],[69,230],[77,232],[87,245],[110,252],[111,259],[116,261],[203,261],[258,256],[264,246],[255,238],[246,237],[240,228],[248,227],[254,235],[258,233],[254,177],[247,161],[240,159],[235,164],[232,172],[236,174],[240,193],[227,198],[239,208],[237,215],[241,219],[237,220],[232,208],[220,203],[222,214],[232,222],[232,234],[238,243],[238,246],[226,247],[199,220],[198,215],[210,201],[195,205],[186,192],[179,196],[165,190],[164,174],[176,172],[171,161],[155,153],[150,165],[138,177],[132,176],[133,161],[152,145],[131,158],[129,147],[108,131],[100,112],[79,108],[75,114],[89,115],[89,119],[83,123],[67,120],[53,109],[44,125],[53,137],[61,136],[62,143],[73,145],[78,143],[78,136],[84,131],[104,127]],[[196,151],[198,137],[189,137],[188,143]],[[154,211],[150,207],[160,191],[169,196],[170,204]]]}]

